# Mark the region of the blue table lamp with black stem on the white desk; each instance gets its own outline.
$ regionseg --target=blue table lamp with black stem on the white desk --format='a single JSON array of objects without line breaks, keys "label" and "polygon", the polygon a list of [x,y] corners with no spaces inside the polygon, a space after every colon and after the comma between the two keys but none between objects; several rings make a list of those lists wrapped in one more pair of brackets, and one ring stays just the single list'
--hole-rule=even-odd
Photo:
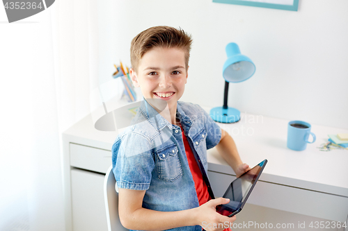
[{"label": "blue table lamp with black stem on the white desk", "polygon": [[240,112],[235,108],[228,108],[228,84],[239,83],[247,80],[255,73],[255,65],[250,58],[242,55],[239,46],[234,42],[226,46],[227,60],[223,65],[223,78],[225,78],[225,93],[223,107],[210,110],[210,117],[220,123],[235,123],[240,120]]}]

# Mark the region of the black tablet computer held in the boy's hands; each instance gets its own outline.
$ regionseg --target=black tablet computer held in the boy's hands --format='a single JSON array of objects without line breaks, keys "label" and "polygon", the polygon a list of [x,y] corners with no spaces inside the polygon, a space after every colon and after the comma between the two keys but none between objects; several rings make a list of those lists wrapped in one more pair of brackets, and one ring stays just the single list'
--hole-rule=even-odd
[{"label": "black tablet computer held in the boy's hands", "polygon": [[267,160],[264,160],[254,166],[253,169],[250,169],[242,176],[239,176],[239,178],[233,180],[225,194],[223,194],[223,198],[229,198],[230,202],[225,205],[216,206],[216,212],[229,217],[239,213],[244,207],[251,191],[253,191],[256,182],[258,182],[266,164]]}]

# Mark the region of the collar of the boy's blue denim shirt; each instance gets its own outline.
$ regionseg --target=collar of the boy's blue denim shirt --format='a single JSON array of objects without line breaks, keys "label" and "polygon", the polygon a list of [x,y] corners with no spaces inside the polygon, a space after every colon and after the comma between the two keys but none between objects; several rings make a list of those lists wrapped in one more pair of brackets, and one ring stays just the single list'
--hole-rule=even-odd
[{"label": "collar of the boy's blue denim shirt", "polygon": [[[156,129],[156,130],[162,130],[166,126],[170,129],[176,129],[177,126],[174,126],[173,124],[169,123],[164,117],[161,116],[155,110],[155,108],[148,103],[145,99],[141,102],[141,105],[139,107],[139,110],[141,111],[141,114],[143,114],[143,117]],[[192,125],[192,119],[185,114],[185,112],[180,107],[180,103],[177,102],[177,113],[176,116],[178,119],[180,119],[180,123],[182,126],[190,127]]]}]

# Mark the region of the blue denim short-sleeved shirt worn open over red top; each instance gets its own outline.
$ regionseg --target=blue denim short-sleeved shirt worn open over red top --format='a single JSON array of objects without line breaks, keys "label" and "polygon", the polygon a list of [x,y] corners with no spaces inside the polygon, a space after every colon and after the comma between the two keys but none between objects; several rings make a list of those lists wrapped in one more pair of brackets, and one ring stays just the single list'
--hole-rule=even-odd
[{"label": "blue denim short-sleeved shirt worn open over red top", "polygon": [[[177,102],[177,118],[207,173],[207,149],[219,144],[221,128],[199,105]],[[146,190],[143,207],[179,211],[198,207],[193,177],[179,126],[143,101],[133,125],[121,132],[112,146],[117,186]],[[173,230],[202,230],[199,225]]]}]

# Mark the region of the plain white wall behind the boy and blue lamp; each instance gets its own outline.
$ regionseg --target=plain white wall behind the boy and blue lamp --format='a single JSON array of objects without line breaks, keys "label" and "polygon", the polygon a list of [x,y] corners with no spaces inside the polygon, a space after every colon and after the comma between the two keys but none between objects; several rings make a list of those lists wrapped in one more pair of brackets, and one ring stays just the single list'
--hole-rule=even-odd
[{"label": "plain white wall behind the boy and blue lamp", "polygon": [[348,1],[300,0],[299,11],[212,0],[100,1],[100,80],[113,62],[130,65],[132,38],[150,26],[193,35],[182,101],[223,104],[225,46],[236,42],[255,75],[230,84],[229,105],[242,112],[348,128]]}]

